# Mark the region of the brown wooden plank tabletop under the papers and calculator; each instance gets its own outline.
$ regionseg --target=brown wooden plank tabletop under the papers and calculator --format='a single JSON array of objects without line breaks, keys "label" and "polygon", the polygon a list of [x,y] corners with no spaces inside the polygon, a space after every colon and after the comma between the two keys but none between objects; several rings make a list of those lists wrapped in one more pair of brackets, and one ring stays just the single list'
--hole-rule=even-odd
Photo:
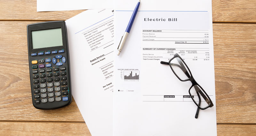
[{"label": "brown wooden plank tabletop under the papers and calculator", "polygon": [[[28,76],[27,24],[83,11],[36,12],[36,0],[0,0],[0,135],[91,135],[74,100],[34,108]],[[214,0],[212,20],[217,133],[255,136],[256,1]]]}]

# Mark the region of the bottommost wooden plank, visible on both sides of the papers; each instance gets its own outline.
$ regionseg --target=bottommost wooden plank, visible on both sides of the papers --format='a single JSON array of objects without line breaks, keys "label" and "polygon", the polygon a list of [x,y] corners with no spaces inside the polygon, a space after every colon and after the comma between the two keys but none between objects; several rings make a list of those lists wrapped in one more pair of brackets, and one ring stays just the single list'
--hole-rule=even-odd
[{"label": "bottommost wooden plank, visible on both sides of the papers", "polygon": [[[44,127],[38,132],[38,127]],[[59,134],[72,136],[91,136],[84,122],[36,122],[36,121],[1,121],[1,135],[40,135],[55,136]],[[209,135],[209,134],[208,134]],[[255,124],[217,124],[218,136],[255,136]]]}]

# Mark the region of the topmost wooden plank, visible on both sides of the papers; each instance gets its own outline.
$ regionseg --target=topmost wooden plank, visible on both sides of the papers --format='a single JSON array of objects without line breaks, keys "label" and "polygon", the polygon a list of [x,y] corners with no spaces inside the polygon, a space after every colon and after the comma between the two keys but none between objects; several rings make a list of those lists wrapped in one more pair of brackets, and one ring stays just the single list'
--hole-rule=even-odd
[{"label": "topmost wooden plank, visible on both sides of the papers", "polygon": [[[0,0],[0,20],[67,20],[84,10],[36,12],[36,0]],[[255,0],[212,0],[214,22],[256,22]]]}]

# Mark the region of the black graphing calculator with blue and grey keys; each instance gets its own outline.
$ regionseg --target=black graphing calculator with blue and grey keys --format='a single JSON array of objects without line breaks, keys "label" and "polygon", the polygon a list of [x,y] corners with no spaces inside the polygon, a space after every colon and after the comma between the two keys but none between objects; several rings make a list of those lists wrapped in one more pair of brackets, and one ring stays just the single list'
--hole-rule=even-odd
[{"label": "black graphing calculator with blue and grey keys", "polygon": [[55,109],[69,105],[71,80],[65,21],[29,24],[27,34],[34,107]]}]

